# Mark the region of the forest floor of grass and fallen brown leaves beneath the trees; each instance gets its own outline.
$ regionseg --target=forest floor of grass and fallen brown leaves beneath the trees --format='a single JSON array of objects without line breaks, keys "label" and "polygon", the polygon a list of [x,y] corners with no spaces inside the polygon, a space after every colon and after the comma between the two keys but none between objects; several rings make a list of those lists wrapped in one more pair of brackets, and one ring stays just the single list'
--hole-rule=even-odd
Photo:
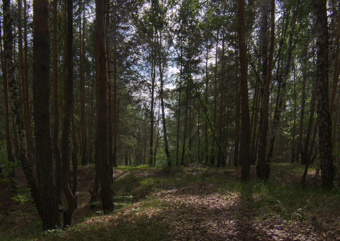
[{"label": "forest floor of grass and fallen brown leaves beneath the trees", "polygon": [[80,166],[73,225],[45,232],[17,168],[17,191],[0,182],[0,240],[340,240],[340,192],[313,187],[313,169],[302,187],[303,168],[272,164],[263,183],[254,166],[250,182],[240,167],[118,167],[116,209],[103,215],[88,205],[94,167]]}]

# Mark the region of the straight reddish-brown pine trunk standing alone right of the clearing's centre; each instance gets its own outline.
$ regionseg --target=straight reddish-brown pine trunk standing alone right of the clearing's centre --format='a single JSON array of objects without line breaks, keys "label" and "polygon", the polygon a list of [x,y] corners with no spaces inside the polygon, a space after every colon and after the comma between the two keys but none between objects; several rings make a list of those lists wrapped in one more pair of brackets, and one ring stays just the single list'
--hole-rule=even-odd
[{"label": "straight reddish-brown pine trunk standing alone right of the clearing's centre", "polygon": [[240,96],[241,96],[241,179],[250,176],[250,118],[248,108],[248,61],[245,43],[244,0],[237,0],[238,43],[240,54]]}]

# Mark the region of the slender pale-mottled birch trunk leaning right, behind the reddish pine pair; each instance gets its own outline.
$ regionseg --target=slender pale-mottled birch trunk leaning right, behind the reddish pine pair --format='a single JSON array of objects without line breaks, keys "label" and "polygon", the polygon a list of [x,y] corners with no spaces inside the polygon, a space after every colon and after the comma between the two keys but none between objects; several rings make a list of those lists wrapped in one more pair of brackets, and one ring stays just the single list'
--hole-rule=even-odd
[{"label": "slender pale-mottled birch trunk leaning right, behind the reddish pine pair", "polygon": [[285,69],[284,69],[284,75],[283,75],[283,80],[281,84],[281,89],[280,89],[280,95],[279,98],[277,99],[277,109],[276,112],[274,113],[274,119],[273,119],[273,124],[271,128],[271,133],[270,133],[270,138],[269,138],[269,147],[268,147],[268,154],[267,154],[267,160],[266,160],[266,180],[269,179],[269,174],[270,174],[270,162],[273,157],[273,149],[274,149],[274,142],[275,142],[275,137],[276,137],[276,131],[278,128],[278,122],[280,120],[280,115],[283,107],[283,101],[285,98],[286,94],[286,84],[287,84],[287,78],[288,78],[288,72],[290,69],[290,59],[291,59],[291,52],[292,52],[292,43],[293,43],[293,36],[294,36],[294,29],[296,25],[296,18],[297,18],[297,13],[299,11],[299,4],[300,0],[296,0],[295,3],[295,10],[293,14],[293,19],[292,19],[292,25],[290,28],[290,33],[289,33],[289,40],[288,40],[288,48],[287,48],[287,58],[286,58],[286,64],[285,64]]}]

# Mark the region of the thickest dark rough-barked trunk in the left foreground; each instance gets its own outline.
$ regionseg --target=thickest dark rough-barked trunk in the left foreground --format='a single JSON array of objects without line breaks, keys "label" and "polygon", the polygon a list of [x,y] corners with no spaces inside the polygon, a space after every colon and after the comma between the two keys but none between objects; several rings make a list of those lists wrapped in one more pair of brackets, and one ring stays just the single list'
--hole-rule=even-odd
[{"label": "thickest dark rough-barked trunk in the left foreground", "polygon": [[49,9],[49,1],[33,1],[33,114],[37,179],[44,229],[60,226],[53,173]]}]

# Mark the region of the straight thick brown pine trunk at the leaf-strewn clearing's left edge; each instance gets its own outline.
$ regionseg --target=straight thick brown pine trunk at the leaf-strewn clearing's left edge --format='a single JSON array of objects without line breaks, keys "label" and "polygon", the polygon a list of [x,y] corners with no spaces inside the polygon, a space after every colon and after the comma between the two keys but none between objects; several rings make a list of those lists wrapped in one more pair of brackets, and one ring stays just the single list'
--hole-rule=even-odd
[{"label": "straight thick brown pine trunk at the leaf-strewn clearing's left edge", "polygon": [[98,145],[101,200],[104,213],[112,212],[113,190],[111,187],[110,170],[108,164],[108,137],[107,137],[107,65],[105,50],[105,19],[104,0],[96,0],[96,55],[98,59]]}]

